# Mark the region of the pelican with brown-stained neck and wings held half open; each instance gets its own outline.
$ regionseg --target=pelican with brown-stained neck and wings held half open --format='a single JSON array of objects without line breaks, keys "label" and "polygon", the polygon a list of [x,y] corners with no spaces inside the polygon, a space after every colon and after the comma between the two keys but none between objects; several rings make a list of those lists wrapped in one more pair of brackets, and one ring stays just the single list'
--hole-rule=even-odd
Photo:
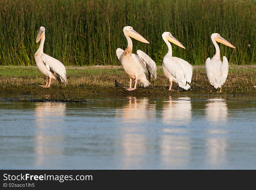
[{"label": "pelican with brown-stained neck and wings held half open", "polygon": [[[130,87],[127,90],[135,90],[137,82],[139,81],[144,87],[150,85],[149,81],[146,78],[145,72],[148,72],[148,78],[150,80],[151,75],[157,77],[157,65],[156,63],[143,51],[137,50],[137,54],[132,53],[132,41],[131,38],[134,38],[143,43],[149,43],[141,34],[133,30],[131,26],[125,26],[123,32],[128,41],[128,47],[125,50],[121,48],[116,49],[116,55],[121,65],[123,66],[125,72],[130,77]],[[132,79],[135,79],[134,88],[131,87]]]}]

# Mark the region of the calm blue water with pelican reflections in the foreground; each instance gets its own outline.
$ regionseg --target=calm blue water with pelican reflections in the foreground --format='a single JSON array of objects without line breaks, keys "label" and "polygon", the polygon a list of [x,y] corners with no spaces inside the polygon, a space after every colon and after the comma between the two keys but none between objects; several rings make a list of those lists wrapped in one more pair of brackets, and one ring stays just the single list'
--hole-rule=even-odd
[{"label": "calm blue water with pelican reflections in the foreground", "polygon": [[0,169],[256,169],[255,115],[256,97],[0,101]]}]

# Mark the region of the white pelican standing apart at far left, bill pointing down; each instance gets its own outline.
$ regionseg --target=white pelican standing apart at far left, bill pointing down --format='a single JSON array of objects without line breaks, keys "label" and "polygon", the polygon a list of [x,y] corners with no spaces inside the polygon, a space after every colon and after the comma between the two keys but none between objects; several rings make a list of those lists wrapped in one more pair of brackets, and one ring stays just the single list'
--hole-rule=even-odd
[{"label": "white pelican standing apart at far left, bill pointing down", "polygon": [[38,69],[45,74],[48,78],[46,85],[40,85],[41,87],[49,88],[51,85],[51,79],[57,80],[60,84],[63,82],[66,85],[67,76],[65,66],[57,59],[45,54],[43,52],[45,43],[45,27],[41,26],[36,38],[36,43],[40,42],[38,50],[35,52],[35,62]]}]

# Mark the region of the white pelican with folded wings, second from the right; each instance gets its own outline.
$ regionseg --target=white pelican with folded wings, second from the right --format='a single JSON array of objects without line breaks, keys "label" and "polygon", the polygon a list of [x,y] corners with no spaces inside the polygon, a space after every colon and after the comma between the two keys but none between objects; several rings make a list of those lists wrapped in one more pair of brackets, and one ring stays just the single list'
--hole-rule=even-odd
[{"label": "white pelican with folded wings, second from the right", "polygon": [[186,48],[170,32],[163,32],[162,37],[168,46],[168,53],[163,58],[163,73],[169,78],[169,90],[172,90],[173,81],[178,83],[177,91],[179,91],[179,87],[187,90],[190,88],[188,83],[191,83],[193,67],[187,61],[172,56],[172,46],[168,41],[184,49]]}]

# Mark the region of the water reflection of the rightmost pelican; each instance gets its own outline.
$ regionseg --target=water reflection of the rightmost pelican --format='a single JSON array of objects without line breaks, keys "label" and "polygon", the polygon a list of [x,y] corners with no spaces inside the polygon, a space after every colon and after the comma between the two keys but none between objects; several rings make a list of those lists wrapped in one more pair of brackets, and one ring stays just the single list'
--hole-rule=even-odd
[{"label": "water reflection of the rightmost pelican", "polygon": [[[210,135],[206,140],[207,162],[216,169],[219,163],[225,163],[227,159],[227,137],[225,135],[227,133],[225,129],[228,117],[227,103],[222,98],[208,101],[205,105],[206,120],[210,122],[207,126],[207,133]],[[219,167],[223,168],[223,166]]]}]

